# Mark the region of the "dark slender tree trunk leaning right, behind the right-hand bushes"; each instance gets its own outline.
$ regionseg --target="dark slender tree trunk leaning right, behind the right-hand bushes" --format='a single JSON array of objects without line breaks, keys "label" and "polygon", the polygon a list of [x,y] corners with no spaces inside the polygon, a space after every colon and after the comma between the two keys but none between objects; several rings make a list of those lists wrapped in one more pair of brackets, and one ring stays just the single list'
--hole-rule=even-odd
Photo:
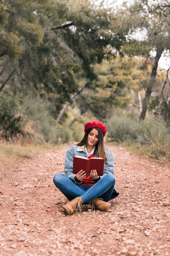
[{"label": "dark slender tree trunk leaning right, behind the right-hand bushes", "polygon": [[152,73],[150,75],[150,81],[149,81],[148,87],[146,88],[146,95],[145,95],[145,98],[143,101],[143,107],[142,107],[140,120],[144,120],[145,116],[146,116],[146,111],[147,111],[148,104],[149,104],[150,94],[152,93],[152,88],[153,88],[153,85],[155,82],[155,76],[157,74],[158,61],[159,61],[159,58],[161,57],[162,52],[163,52],[163,49],[160,52],[157,52],[157,55],[154,60],[154,66],[152,68]]}]

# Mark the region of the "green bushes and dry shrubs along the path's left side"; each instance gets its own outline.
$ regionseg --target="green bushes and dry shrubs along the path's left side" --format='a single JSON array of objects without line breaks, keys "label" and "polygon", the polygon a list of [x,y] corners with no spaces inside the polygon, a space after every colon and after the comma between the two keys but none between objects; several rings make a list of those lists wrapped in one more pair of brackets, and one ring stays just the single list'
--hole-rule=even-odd
[{"label": "green bushes and dry shrubs along the path's left side", "polygon": [[37,143],[57,142],[55,120],[51,109],[41,99],[0,95],[0,136],[7,141],[21,138]]}]

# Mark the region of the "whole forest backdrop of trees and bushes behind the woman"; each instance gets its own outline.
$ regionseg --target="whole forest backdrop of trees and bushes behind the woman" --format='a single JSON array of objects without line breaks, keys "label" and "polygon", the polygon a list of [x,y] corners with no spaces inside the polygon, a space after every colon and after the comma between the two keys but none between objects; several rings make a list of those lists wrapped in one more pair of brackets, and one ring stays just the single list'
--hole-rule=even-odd
[{"label": "whole forest backdrop of trees and bushes behind the woman", "polygon": [[169,0],[0,0],[1,152],[97,119],[107,143],[170,161],[169,50]]}]

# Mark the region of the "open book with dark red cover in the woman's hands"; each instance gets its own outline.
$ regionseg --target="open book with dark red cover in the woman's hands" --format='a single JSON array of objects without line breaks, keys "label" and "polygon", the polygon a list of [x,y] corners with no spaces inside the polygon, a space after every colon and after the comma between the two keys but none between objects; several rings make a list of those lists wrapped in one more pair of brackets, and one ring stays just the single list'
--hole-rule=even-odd
[{"label": "open book with dark red cover in the woman's hands", "polygon": [[104,171],[104,158],[100,157],[91,157],[88,159],[87,157],[81,157],[76,155],[73,157],[73,173],[78,173],[80,170],[86,172],[88,176],[91,170],[96,170],[99,176],[103,175]]}]

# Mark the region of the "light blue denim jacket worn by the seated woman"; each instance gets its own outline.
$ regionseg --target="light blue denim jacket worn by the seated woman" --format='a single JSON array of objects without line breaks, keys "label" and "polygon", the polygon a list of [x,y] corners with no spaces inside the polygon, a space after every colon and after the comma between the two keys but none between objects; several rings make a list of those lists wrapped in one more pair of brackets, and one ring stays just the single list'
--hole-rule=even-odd
[{"label": "light blue denim jacket worn by the seated woman", "polygon": [[[114,173],[114,156],[109,148],[105,147],[107,160],[104,168],[103,176],[106,173]],[[64,172],[73,182],[75,182],[75,174],[73,173],[73,157],[75,155],[87,157],[86,150],[84,146],[73,145],[68,148],[65,156]],[[101,178],[103,176],[100,176]]]}]

